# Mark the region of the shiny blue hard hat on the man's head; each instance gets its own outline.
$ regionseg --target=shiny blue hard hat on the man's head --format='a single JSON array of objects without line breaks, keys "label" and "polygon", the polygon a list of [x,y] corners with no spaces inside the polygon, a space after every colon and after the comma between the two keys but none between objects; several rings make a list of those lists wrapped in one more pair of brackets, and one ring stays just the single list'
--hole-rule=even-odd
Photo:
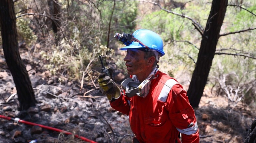
[{"label": "shiny blue hard hat on the man's head", "polygon": [[149,50],[159,52],[160,56],[165,54],[163,41],[157,33],[147,29],[139,29],[134,31],[132,35],[135,40],[132,40],[131,43],[124,43],[126,46],[120,48],[120,50],[148,48]]}]

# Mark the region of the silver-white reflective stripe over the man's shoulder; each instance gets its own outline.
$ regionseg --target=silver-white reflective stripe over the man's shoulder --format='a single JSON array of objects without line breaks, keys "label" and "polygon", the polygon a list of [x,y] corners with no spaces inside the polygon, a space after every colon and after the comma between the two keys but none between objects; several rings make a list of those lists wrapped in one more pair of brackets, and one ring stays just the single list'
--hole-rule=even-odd
[{"label": "silver-white reflective stripe over the man's shoulder", "polygon": [[178,82],[175,81],[174,79],[169,79],[165,82],[164,87],[162,88],[159,96],[158,96],[158,100],[165,102],[168,94],[171,90],[171,88],[173,87],[173,85],[177,84]]}]

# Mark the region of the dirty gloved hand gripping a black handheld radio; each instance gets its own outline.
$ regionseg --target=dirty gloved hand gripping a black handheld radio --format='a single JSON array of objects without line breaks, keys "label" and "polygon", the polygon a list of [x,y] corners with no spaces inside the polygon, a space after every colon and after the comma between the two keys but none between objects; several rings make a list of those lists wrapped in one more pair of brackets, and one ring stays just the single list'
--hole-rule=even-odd
[{"label": "dirty gloved hand gripping a black handheld radio", "polygon": [[120,97],[121,90],[112,79],[113,69],[109,68],[108,70],[111,77],[106,76],[104,72],[99,74],[99,89],[104,95],[107,95],[108,100],[114,101]]}]

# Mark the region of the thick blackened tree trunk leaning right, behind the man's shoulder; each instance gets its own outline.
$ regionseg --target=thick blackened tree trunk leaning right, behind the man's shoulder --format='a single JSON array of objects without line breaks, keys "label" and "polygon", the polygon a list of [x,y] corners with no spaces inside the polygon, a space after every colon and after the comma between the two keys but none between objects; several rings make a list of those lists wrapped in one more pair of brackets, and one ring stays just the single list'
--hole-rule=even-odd
[{"label": "thick blackened tree trunk leaning right, behind the man's shoulder", "polygon": [[215,55],[228,0],[213,0],[206,23],[198,59],[188,89],[188,97],[192,107],[198,107],[207,82],[208,74]]}]

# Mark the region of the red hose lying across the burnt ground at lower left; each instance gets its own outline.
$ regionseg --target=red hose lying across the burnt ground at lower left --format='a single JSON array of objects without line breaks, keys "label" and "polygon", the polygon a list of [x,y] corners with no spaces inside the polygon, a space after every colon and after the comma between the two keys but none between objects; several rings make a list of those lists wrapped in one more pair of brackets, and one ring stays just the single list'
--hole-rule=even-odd
[{"label": "red hose lying across the burnt ground at lower left", "polygon": [[[67,135],[72,135],[71,132],[68,132],[68,131],[64,131],[62,129],[57,129],[57,128],[52,128],[52,127],[49,127],[49,126],[44,126],[44,125],[41,125],[41,124],[36,124],[36,123],[32,123],[32,122],[28,122],[28,121],[24,121],[24,120],[21,120],[21,119],[14,119],[14,118],[10,118],[10,117],[6,117],[6,116],[3,116],[3,115],[0,115],[0,118],[3,118],[3,119],[7,119],[7,120],[12,120],[12,121],[15,121],[15,122],[20,122],[20,123],[24,123],[24,124],[28,124],[28,125],[32,125],[32,126],[39,126],[41,128],[44,128],[44,129],[49,129],[49,130],[53,130],[53,131],[57,131],[57,132],[61,132],[61,133],[64,133],[64,134],[67,134]],[[78,136],[78,135],[75,135],[76,138],[80,138],[84,141],[87,141],[89,143],[97,143],[95,141],[92,141],[88,138],[85,138],[85,137],[81,137],[81,136]]]}]

